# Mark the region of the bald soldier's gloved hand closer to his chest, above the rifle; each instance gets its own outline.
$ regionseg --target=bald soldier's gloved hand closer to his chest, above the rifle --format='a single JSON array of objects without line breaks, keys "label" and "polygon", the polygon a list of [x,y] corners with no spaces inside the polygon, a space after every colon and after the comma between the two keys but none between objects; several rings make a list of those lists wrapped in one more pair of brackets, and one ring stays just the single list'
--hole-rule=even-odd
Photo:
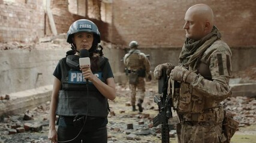
[{"label": "bald soldier's gloved hand closer to his chest, above the rifle", "polygon": [[171,70],[170,78],[179,82],[191,83],[197,76],[196,73],[185,69],[184,67],[176,66]]}]

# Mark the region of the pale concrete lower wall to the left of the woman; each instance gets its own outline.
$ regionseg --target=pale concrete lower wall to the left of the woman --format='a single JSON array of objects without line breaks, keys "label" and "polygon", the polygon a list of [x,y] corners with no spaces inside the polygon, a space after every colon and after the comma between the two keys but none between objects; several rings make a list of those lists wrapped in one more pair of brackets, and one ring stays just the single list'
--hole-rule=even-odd
[{"label": "pale concrete lower wall to the left of the woman", "polygon": [[53,83],[53,70],[67,49],[12,49],[0,52],[0,95]]}]

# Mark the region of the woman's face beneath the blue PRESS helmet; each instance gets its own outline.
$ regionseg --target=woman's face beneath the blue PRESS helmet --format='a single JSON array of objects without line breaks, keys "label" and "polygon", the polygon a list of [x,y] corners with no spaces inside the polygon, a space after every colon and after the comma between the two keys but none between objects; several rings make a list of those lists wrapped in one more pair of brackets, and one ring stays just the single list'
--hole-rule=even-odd
[{"label": "woman's face beneath the blue PRESS helmet", "polygon": [[81,49],[91,49],[94,42],[94,34],[89,32],[74,33],[73,42],[76,45],[77,51]]}]

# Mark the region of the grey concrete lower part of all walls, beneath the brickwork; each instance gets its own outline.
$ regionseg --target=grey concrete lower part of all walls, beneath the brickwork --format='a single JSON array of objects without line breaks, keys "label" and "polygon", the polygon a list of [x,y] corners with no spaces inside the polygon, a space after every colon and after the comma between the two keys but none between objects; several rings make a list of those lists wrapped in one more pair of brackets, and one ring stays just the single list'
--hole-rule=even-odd
[{"label": "grey concrete lower part of all walls, beneath the brickwork", "polygon": [[[65,39],[63,39],[65,43]],[[0,95],[12,92],[25,91],[41,86],[52,85],[53,70],[58,61],[65,57],[65,52],[70,50],[68,44],[51,44],[51,47],[37,46],[37,49],[12,49],[0,52]],[[103,45],[103,54],[109,58],[115,82],[126,82],[124,64],[121,61],[125,51],[112,48],[111,45]],[[41,49],[40,49],[41,48]],[[151,70],[158,64],[170,62],[177,64],[180,48],[146,48],[141,49],[150,55]],[[251,59],[255,57],[256,48],[233,48],[233,71],[243,70],[241,66],[249,67]],[[159,56],[161,55],[161,56]],[[164,57],[164,58],[159,58]]]}]

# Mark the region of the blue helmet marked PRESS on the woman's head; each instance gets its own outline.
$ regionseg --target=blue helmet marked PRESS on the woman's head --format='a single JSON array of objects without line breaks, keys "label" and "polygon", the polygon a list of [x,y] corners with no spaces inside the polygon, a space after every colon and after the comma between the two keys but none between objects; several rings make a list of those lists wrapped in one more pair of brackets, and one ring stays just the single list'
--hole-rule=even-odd
[{"label": "blue helmet marked PRESS on the woman's head", "polygon": [[101,42],[101,35],[96,24],[93,23],[91,20],[86,20],[86,19],[80,19],[80,20],[74,21],[74,23],[71,24],[70,29],[67,32],[67,42],[70,43],[75,50],[76,50],[76,47],[74,46],[72,38],[74,36],[74,33],[79,33],[79,32],[94,33],[94,42],[92,43],[92,48],[89,49],[89,52],[95,51],[98,43]]}]

